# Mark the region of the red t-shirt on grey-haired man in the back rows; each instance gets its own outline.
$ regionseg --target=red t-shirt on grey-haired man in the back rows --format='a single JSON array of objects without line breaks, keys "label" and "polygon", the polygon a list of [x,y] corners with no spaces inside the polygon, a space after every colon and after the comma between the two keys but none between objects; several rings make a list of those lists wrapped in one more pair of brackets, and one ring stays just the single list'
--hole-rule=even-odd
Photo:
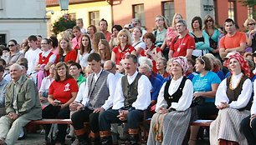
[{"label": "red t-shirt on grey-haired man in the back rows", "polygon": [[195,47],[195,39],[187,33],[185,37],[172,38],[170,49],[173,51],[172,57],[185,57],[187,55],[187,49],[195,49]]}]

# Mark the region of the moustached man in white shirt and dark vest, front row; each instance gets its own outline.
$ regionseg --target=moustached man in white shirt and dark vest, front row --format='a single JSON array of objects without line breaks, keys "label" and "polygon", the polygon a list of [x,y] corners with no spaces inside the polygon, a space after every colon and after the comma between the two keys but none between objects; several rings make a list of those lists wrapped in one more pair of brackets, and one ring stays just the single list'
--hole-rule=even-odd
[{"label": "moustached man in white shirt and dark vest, front row", "polygon": [[127,122],[131,144],[138,143],[139,125],[143,120],[143,111],[151,103],[151,82],[137,72],[137,57],[126,55],[125,75],[117,82],[113,107],[100,113],[100,138],[103,145],[112,144],[110,124]]}]

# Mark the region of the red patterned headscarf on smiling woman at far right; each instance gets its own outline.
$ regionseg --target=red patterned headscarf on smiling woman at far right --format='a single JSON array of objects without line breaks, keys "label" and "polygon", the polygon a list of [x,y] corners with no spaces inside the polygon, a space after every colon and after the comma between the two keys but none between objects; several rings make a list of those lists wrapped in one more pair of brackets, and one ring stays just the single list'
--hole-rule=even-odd
[{"label": "red patterned headscarf on smiling woman at far right", "polygon": [[[250,74],[251,74],[250,68],[248,67],[248,62],[243,58],[243,56],[238,53],[231,55],[228,58],[228,64],[230,62],[230,59],[232,59],[232,58],[235,58],[238,60],[238,62],[240,63],[240,66],[241,66],[241,70],[243,71],[243,74],[246,75],[247,77],[250,77]],[[232,72],[231,72],[231,74],[232,74]]]}]

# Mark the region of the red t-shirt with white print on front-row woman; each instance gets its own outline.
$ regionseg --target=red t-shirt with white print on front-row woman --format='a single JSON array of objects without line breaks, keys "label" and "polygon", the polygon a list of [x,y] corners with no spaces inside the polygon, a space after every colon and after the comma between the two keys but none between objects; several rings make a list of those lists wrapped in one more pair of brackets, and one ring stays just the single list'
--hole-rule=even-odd
[{"label": "red t-shirt with white print on front-row woman", "polygon": [[69,78],[64,81],[52,82],[49,87],[49,95],[53,95],[54,99],[61,103],[66,103],[72,97],[71,92],[78,92],[79,87],[74,78]]}]

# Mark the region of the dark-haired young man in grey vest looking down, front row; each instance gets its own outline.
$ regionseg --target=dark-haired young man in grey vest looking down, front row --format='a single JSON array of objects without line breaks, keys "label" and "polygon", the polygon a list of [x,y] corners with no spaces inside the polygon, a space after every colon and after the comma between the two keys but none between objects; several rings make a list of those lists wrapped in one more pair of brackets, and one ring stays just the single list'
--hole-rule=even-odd
[{"label": "dark-haired young man in grey vest looking down, front row", "polygon": [[69,105],[70,111],[78,110],[74,112],[71,120],[80,145],[90,142],[88,138],[90,132],[84,128],[84,122],[90,123],[92,142],[99,141],[98,117],[100,112],[104,112],[111,107],[111,103],[106,100],[113,96],[115,92],[114,75],[103,70],[100,64],[100,54],[91,53],[88,57],[88,65],[93,73],[89,75],[84,89],[82,87],[83,83],[81,84],[77,97]]}]

